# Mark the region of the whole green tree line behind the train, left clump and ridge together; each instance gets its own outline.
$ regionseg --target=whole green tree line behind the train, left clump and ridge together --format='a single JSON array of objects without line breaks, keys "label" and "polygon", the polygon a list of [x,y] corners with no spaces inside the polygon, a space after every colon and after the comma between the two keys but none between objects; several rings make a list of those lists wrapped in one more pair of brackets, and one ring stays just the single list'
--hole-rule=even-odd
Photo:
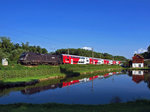
[{"label": "whole green tree line behind the train, left clump and ridge together", "polygon": [[[17,61],[20,55],[23,52],[34,52],[34,53],[48,53],[47,49],[41,48],[40,46],[31,46],[29,42],[26,43],[13,43],[8,37],[0,37],[0,60],[3,58],[8,58],[10,61]],[[50,54],[68,54],[68,49],[58,49]],[[108,53],[99,53],[93,52],[85,49],[69,49],[69,54],[71,55],[80,55],[86,57],[92,57],[94,55],[95,58],[103,58],[103,59],[111,59],[111,60],[120,60],[126,61],[127,59],[123,56],[113,56]]]}]

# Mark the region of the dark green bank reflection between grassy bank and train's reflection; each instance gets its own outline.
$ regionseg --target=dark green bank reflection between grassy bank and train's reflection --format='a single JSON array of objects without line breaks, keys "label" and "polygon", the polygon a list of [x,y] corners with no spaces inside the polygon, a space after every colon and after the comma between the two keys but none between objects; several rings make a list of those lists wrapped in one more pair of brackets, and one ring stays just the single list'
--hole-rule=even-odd
[{"label": "dark green bank reflection between grassy bank and train's reflection", "polygon": [[[114,70],[111,72],[121,72],[118,70]],[[105,75],[108,72],[103,72],[103,73],[95,73],[95,74],[85,74],[85,75],[79,75],[79,76],[74,76],[74,77],[65,77],[65,78],[57,78],[57,79],[50,79],[50,80],[46,80],[46,81],[41,81],[32,85],[26,85],[26,86],[6,86],[2,84],[2,86],[0,86],[0,96],[4,96],[6,94],[9,94],[10,92],[15,92],[15,91],[21,91],[21,90],[27,90],[27,89],[34,89],[34,88],[47,88],[48,86],[50,87],[51,85],[61,85],[63,82],[70,82],[73,80],[80,80],[80,79],[84,79],[84,78],[90,78],[96,75]],[[122,74],[122,73],[120,73]],[[119,73],[117,73],[117,75],[119,75]],[[106,77],[108,78],[108,77]],[[59,86],[60,88],[61,86]],[[57,86],[56,86],[57,88]],[[40,89],[39,89],[40,90]],[[43,89],[41,89],[43,90]]]}]

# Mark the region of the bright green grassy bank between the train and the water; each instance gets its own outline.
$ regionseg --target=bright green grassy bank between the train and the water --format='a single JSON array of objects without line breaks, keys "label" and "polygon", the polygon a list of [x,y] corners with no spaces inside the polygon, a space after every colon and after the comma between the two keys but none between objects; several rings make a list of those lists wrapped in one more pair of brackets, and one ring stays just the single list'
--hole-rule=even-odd
[{"label": "bright green grassy bank between the train and the water", "polygon": [[122,69],[117,65],[60,65],[60,66],[35,66],[22,65],[0,66],[0,82],[29,82],[55,77],[68,77],[72,75],[89,74]]}]

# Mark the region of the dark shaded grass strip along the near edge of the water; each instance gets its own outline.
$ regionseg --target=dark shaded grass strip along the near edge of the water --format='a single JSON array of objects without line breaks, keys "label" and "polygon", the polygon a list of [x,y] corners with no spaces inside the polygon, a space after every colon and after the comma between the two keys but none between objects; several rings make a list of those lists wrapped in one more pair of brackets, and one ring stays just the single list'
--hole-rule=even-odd
[{"label": "dark shaded grass strip along the near edge of the water", "polygon": [[0,112],[150,112],[150,101],[107,105],[11,104],[0,105]]}]

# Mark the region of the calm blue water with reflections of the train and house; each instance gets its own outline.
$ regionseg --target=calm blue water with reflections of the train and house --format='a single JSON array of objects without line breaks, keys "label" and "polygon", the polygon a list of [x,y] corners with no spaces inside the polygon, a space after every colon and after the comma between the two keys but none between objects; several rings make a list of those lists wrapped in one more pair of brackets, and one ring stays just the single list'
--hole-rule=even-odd
[{"label": "calm blue water with reflections of the train and house", "polygon": [[0,90],[0,104],[109,104],[150,99],[150,72],[127,71]]}]

